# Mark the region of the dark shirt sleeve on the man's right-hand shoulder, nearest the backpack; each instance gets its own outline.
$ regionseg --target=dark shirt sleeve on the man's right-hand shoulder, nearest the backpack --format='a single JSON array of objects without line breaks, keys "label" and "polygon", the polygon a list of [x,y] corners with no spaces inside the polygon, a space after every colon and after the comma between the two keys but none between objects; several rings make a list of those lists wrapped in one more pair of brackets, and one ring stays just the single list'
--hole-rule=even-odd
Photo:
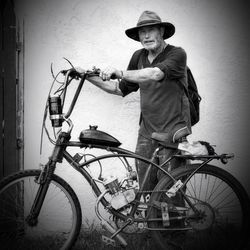
[{"label": "dark shirt sleeve on the man's right-hand shoulder, nearest the backpack", "polygon": [[187,55],[180,47],[172,49],[165,60],[157,63],[155,67],[164,72],[164,78],[179,79],[186,74]]}]

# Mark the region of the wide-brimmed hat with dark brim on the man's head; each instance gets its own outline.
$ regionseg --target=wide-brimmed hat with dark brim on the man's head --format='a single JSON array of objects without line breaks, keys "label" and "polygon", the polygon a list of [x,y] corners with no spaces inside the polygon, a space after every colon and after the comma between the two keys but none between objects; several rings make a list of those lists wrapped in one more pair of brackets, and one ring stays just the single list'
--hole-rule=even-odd
[{"label": "wide-brimmed hat with dark brim on the man's head", "polygon": [[136,27],[125,30],[126,35],[136,41],[140,41],[138,30],[145,26],[160,25],[165,27],[163,39],[171,37],[175,33],[175,27],[172,23],[162,22],[161,18],[153,11],[144,11],[137,22]]}]

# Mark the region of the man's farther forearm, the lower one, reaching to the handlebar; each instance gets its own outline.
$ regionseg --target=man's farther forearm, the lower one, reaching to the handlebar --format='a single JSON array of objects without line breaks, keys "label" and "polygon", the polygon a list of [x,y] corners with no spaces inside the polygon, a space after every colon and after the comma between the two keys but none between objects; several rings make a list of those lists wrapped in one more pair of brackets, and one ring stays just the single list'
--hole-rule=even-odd
[{"label": "man's farther forearm, the lower one, reaching to the handlebar", "polygon": [[117,81],[103,81],[98,76],[88,77],[87,80],[107,93],[122,96],[122,92]]}]

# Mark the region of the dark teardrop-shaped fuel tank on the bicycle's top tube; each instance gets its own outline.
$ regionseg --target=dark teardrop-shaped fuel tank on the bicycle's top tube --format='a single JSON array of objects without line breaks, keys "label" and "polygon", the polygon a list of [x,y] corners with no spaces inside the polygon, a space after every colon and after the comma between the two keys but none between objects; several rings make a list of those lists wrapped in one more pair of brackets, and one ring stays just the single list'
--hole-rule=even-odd
[{"label": "dark teardrop-shaped fuel tank on the bicycle's top tube", "polygon": [[97,126],[89,126],[89,129],[82,130],[79,140],[86,144],[96,144],[109,147],[119,147],[121,143],[113,136],[97,130]]}]

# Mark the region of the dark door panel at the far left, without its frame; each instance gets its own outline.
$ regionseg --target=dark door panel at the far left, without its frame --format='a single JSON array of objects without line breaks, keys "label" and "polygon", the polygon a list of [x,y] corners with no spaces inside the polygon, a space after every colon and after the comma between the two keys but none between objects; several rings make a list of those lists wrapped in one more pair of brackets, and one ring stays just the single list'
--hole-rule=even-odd
[{"label": "dark door panel at the far left, without its frame", "polygon": [[19,169],[17,147],[17,32],[13,1],[1,1],[0,179]]}]

